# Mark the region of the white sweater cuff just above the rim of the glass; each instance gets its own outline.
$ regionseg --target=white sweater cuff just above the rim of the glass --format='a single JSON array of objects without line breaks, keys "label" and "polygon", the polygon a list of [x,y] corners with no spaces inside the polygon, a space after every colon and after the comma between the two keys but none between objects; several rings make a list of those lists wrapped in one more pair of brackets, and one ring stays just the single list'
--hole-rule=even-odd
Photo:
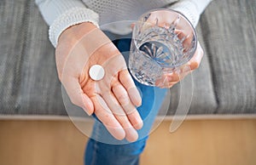
[{"label": "white sweater cuff just above the rim of the glass", "polygon": [[200,19],[200,13],[197,11],[195,3],[182,1],[173,4],[169,9],[182,13],[195,27]]}]

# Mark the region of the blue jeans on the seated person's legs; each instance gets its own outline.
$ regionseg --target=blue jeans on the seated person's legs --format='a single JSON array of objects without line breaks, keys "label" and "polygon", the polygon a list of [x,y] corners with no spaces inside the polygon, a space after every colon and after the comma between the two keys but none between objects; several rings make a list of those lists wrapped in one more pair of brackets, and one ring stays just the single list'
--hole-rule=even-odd
[{"label": "blue jeans on the seated person's legs", "polygon": [[[111,33],[107,33],[113,43],[119,48],[124,55],[125,60],[128,58],[131,37],[125,36],[119,38]],[[85,165],[138,165],[139,156],[143,152],[148,139],[148,134],[154,123],[154,118],[160,109],[160,105],[166,97],[166,89],[149,87],[134,82],[142,94],[143,104],[137,108],[143,118],[143,128],[138,130],[139,138],[136,142],[130,143],[127,140],[114,139],[102,122],[97,118],[91,137],[88,141],[84,163]],[[96,117],[96,116],[95,116]]]}]

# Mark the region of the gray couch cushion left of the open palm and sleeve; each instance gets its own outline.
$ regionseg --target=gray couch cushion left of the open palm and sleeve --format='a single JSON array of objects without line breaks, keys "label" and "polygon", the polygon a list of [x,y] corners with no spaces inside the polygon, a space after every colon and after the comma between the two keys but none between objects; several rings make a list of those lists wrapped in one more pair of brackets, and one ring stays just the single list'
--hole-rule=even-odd
[{"label": "gray couch cushion left of the open palm and sleeve", "polygon": [[66,115],[48,26],[33,0],[0,3],[2,114]]}]

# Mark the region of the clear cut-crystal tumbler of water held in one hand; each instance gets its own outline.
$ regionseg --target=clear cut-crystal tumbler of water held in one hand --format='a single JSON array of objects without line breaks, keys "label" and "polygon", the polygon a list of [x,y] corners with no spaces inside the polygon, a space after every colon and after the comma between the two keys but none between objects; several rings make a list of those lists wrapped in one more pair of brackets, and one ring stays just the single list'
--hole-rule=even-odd
[{"label": "clear cut-crystal tumbler of water held in one hand", "polygon": [[166,73],[186,64],[195,54],[197,37],[189,20],[171,9],[143,14],[135,23],[129,69],[139,83],[155,86]]}]

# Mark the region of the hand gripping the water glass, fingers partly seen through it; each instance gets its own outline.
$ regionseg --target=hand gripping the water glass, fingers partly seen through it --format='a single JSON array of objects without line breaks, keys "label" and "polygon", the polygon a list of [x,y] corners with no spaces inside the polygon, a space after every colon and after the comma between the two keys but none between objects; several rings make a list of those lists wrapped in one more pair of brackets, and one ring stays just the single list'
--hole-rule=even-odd
[{"label": "hand gripping the water glass, fingers partly seen through it", "polygon": [[[177,15],[171,14],[165,10],[158,10],[157,12],[150,14],[146,21],[148,23],[144,24],[143,27],[148,28],[148,26],[154,26],[157,24],[160,27],[168,29],[174,23],[177,25],[175,32],[178,34],[179,39],[183,40],[183,46],[188,47],[192,40],[192,31],[189,26],[184,26],[185,24],[183,23],[177,24],[175,21],[177,21]],[[133,28],[133,26],[134,24],[131,25],[131,28]],[[166,73],[163,75],[163,77],[156,81],[155,85],[160,88],[172,88],[174,84],[181,81],[183,77],[186,77],[190,72],[195,71],[195,69],[199,67],[203,54],[201,44],[197,43],[197,48],[192,59],[175,71],[172,71],[172,73]]]}]

